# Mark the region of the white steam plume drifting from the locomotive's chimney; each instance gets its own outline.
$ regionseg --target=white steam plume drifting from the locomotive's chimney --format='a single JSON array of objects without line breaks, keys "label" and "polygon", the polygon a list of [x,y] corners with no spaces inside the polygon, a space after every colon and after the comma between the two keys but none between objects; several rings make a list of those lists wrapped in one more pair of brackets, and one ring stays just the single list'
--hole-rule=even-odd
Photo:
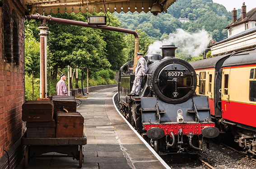
[{"label": "white steam plume drifting from the locomotive's chimney", "polygon": [[164,39],[163,42],[155,41],[153,44],[150,44],[148,53],[162,54],[160,47],[174,44],[178,49],[188,55],[199,56],[200,53],[204,52],[211,40],[211,37],[205,30],[200,30],[192,34],[182,29],[177,29],[176,31],[176,33],[170,34],[168,39]]}]

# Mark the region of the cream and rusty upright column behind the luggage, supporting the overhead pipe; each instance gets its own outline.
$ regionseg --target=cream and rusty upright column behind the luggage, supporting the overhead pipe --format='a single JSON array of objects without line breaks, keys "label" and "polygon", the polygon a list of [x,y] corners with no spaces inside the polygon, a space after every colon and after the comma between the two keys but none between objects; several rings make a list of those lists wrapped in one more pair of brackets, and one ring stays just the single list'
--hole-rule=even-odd
[{"label": "cream and rusty upright column behind the luggage, supporting the overhead pipe", "polygon": [[40,98],[46,98],[47,89],[47,24],[40,24]]}]

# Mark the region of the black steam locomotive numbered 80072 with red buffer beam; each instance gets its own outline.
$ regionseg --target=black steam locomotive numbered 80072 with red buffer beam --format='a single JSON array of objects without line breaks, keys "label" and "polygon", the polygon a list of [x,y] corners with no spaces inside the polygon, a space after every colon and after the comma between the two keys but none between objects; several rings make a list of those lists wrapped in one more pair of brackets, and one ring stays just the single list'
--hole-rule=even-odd
[{"label": "black steam locomotive numbered 80072 with red buffer beam", "polygon": [[[134,61],[119,71],[118,101],[123,116],[159,154],[202,151],[202,138],[219,135],[211,120],[209,100],[195,95],[197,76],[191,65],[175,58],[174,45],[161,54],[147,54],[147,76],[140,96],[128,96],[135,75]],[[209,147],[209,142],[207,142]]]}]

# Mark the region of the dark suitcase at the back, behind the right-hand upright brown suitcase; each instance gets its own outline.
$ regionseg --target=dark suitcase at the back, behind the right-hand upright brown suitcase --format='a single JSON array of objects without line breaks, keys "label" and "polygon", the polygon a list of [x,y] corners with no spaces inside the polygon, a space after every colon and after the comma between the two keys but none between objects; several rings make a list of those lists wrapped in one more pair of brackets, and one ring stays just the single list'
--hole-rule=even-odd
[{"label": "dark suitcase at the back, behind the right-hand upright brown suitcase", "polygon": [[52,98],[54,104],[54,113],[57,111],[76,112],[75,99]]}]

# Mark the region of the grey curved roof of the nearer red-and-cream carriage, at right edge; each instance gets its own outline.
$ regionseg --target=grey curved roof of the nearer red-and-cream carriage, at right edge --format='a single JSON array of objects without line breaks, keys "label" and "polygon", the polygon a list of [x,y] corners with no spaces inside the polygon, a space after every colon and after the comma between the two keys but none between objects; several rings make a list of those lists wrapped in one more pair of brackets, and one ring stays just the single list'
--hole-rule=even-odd
[{"label": "grey curved roof of the nearer red-and-cream carriage, at right edge", "polygon": [[256,49],[245,52],[237,52],[225,60],[222,67],[256,64]]}]

